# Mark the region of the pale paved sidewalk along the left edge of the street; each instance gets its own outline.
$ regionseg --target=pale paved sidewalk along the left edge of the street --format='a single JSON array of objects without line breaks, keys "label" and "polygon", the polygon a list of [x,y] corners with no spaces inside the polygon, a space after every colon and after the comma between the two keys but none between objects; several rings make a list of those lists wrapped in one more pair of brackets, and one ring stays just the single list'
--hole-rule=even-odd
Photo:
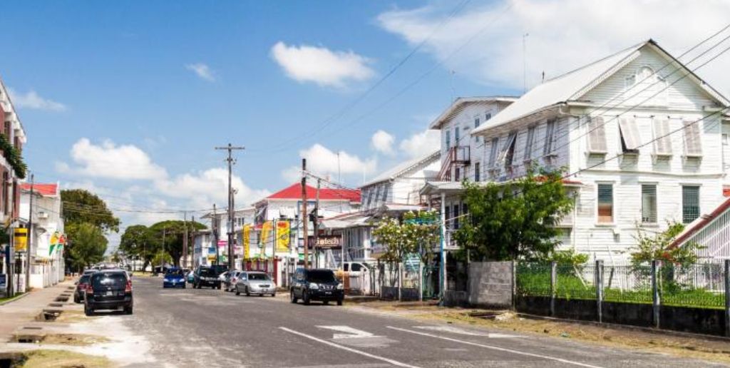
[{"label": "pale paved sidewalk along the left edge of the street", "polygon": [[12,332],[21,325],[34,321],[34,318],[42,313],[49,303],[53,303],[58,295],[64,291],[73,293],[68,289],[69,286],[74,286],[74,282],[64,281],[50,288],[31,291],[28,296],[0,305],[0,344],[7,342],[12,337]]}]

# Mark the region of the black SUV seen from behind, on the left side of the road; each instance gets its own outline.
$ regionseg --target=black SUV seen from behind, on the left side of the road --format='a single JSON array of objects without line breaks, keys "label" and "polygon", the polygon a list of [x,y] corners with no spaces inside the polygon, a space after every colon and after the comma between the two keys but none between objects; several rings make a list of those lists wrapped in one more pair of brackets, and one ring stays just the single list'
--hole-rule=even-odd
[{"label": "black SUV seen from behind, on the left side of the road", "polygon": [[84,313],[92,315],[96,310],[123,308],[132,314],[132,280],[123,269],[103,269],[89,276],[85,290]]}]

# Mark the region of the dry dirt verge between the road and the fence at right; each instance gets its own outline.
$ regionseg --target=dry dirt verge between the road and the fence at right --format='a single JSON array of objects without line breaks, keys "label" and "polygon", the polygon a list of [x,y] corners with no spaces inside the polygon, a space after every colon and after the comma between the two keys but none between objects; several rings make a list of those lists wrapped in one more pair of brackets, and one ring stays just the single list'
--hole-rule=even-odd
[{"label": "dry dirt verge between the road and the fence at right", "polygon": [[[470,326],[483,326],[524,334],[575,339],[596,345],[632,348],[652,353],[692,357],[730,364],[730,340],[684,337],[662,331],[645,331],[614,326],[522,318],[515,313],[476,309],[438,307],[433,302],[356,302],[352,307],[364,307],[383,313],[397,313],[408,318],[445,321]],[[495,315],[483,318],[479,315]]]}]

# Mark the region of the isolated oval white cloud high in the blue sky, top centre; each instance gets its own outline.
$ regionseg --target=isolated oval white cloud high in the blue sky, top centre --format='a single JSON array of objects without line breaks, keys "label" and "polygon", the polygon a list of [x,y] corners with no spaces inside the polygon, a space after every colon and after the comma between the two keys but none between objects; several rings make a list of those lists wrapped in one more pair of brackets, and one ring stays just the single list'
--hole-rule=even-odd
[{"label": "isolated oval white cloud high in the blue sky, top centre", "polygon": [[326,47],[291,45],[277,42],[272,58],[297,82],[314,82],[330,87],[344,87],[350,81],[363,81],[374,72],[368,58],[353,51],[331,51]]}]

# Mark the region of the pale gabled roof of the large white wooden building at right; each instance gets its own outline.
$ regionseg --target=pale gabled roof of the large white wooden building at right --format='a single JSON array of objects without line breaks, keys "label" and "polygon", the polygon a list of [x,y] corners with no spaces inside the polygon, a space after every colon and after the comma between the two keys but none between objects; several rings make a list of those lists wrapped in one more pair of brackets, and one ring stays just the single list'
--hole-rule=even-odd
[{"label": "pale gabled roof of the large white wooden building at right", "polygon": [[639,50],[642,47],[652,47],[657,53],[663,54],[670,61],[683,66],[691,74],[691,80],[694,80],[699,88],[706,91],[712,98],[721,101],[726,106],[730,104],[725,97],[718,91],[715,91],[710,85],[704,83],[702,79],[692,73],[686,66],[677,61],[672,55],[659,47],[652,39],[633,45],[629,48],[614,53],[591,64],[582,66],[572,72],[568,72],[559,77],[545,81],[540,85],[532,88],[525,93],[515,103],[510,104],[502,112],[491,118],[487,123],[477,129],[472,130],[472,134],[480,134],[488,129],[496,126],[502,126],[512,120],[526,118],[536,112],[557,107],[566,104],[569,101],[578,101],[580,97],[591,91],[596,85],[602,83],[607,77],[617,72],[619,69],[634,61],[639,56]]}]

